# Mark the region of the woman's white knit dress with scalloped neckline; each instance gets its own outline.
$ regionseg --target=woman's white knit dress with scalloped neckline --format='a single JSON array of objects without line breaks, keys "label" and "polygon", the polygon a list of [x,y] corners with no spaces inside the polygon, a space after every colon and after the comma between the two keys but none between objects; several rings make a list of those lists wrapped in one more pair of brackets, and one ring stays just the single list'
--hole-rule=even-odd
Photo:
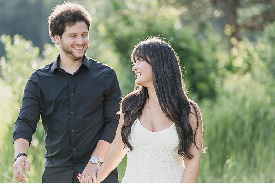
[{"label": "woman's white knit dress with scalloped neckline", "polygon": [[151,132],[137,119],[129,139],[133,150],[127,153],[122,183],[181,183],[184,161],[178,150],[175,123],[165,130]]}]

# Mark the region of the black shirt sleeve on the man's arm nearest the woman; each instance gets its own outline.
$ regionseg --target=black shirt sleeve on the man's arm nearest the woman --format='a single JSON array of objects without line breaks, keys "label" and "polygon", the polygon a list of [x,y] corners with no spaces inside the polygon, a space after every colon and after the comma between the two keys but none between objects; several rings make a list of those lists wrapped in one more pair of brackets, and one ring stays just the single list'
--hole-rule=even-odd
[{"label": "black shirt sleeve on the man's arm nearest the woman", "polygon": [[109,90],[104,94],[103,100],[105,126],[99,140],[105,140],[109,143],[112,143],[115,138],[116,129],[119,123],[119,116],[116,114],[116,112],[119,111],[119,103],[121,101],[119,82],[114,70],[111,72],[108,89]]}]

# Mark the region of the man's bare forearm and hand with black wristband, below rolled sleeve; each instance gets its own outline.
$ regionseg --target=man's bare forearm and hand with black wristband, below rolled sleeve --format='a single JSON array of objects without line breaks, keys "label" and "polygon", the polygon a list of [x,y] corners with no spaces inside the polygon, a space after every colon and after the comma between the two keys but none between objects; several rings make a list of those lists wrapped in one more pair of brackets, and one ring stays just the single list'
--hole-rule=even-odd
[{"label": "man's bare forearm and hand with black wristband, below rolled sleeve", "polygon": [[[29,148],[29,141],[23,138],[19,138],[14,141],[14,158],[19,153],[25,153],[27,154]],[[14,178],[20,182],[27,182],[28,179],[24,175],[22,168],[25,167],[25,172],[27,175],[29,175],[29,159],[23,155],[19,156],[13,165],[13,175]]]}]

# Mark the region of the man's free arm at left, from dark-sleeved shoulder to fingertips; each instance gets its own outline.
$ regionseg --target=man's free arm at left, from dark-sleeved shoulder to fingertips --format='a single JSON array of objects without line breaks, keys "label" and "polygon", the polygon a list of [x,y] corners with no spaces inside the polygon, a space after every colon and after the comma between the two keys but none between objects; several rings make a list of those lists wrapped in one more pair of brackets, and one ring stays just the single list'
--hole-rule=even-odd
[{"label": "man's free arm at left, from dark-sleeved shoulder to fingertips", "polygon": [[[32,134],[36,131],[37,122],[40,119],[40,103],[38,94],[36,75],[32,74],[27,81],[20,106],[20,112],[14,126],[14,157],[19,153],[27,153],[32,141]],[[29,159],[21,155],[16,159],[13,166],[14,178],[20,182],[28,181],[26,176],[23,174],[23,167],[25,167],[26,174],[29,175]]]}]

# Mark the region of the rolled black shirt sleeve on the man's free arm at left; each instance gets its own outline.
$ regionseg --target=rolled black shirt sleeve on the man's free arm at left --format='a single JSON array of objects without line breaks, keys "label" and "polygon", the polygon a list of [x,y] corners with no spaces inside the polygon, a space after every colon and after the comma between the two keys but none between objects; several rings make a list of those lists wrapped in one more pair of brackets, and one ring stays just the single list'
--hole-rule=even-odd
[{"label": "rolled black shirt sleeve on the man's free arm at left", "polygon": [[40,119],[39,90],[37,77],[32,73],[27,81],[18,118],[15,122],[13,133],[13,144],[18,138],[24,138],[32,142],[32,134],[36,131],[37,123]]}]

